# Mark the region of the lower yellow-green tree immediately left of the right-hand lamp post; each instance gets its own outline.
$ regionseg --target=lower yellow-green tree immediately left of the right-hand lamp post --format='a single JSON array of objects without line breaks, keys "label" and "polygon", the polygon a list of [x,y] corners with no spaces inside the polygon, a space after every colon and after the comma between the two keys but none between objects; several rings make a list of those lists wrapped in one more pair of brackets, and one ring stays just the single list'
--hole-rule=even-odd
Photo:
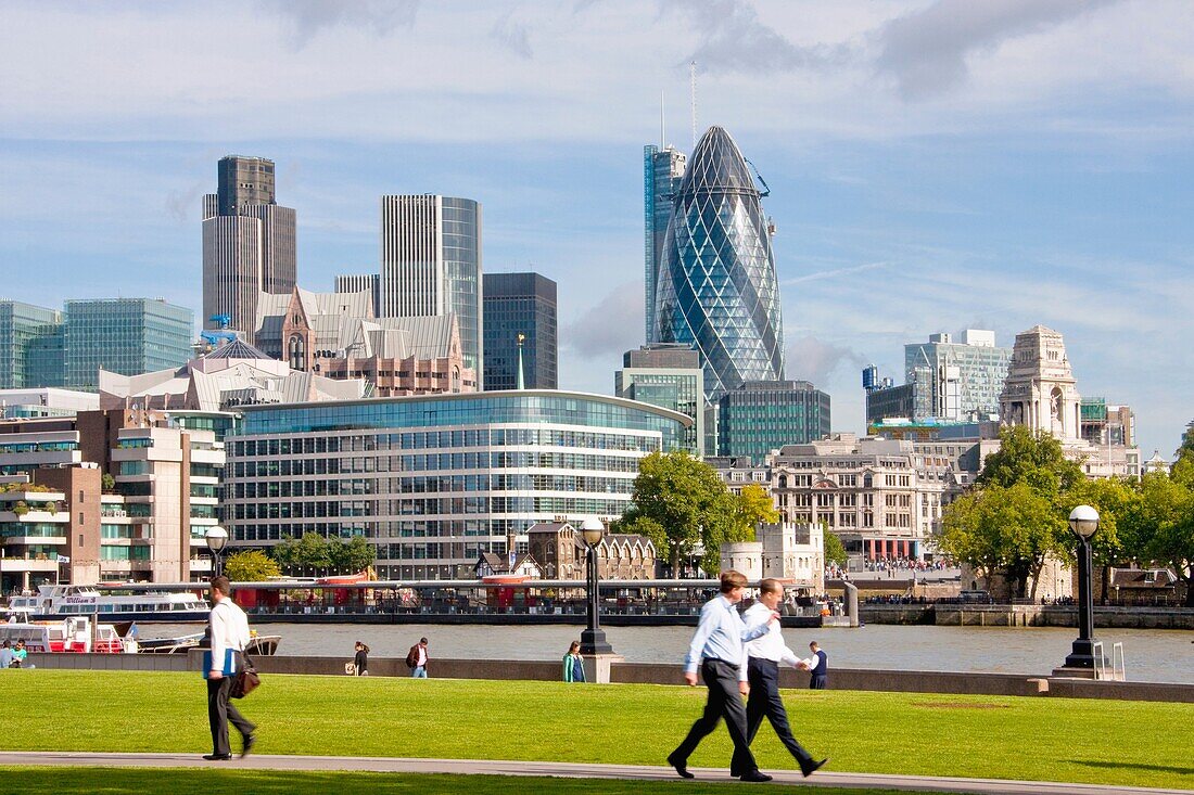
[{"label": "lower yellow-green tree immediately left of the right-hand lamp post", "polygon": [[1063,532],[1066,524],[1053,503],[1028,482],[1016,482],[990,485],[950,503],[937,543],[954,560],[1002,575],[1014,596],[1035,598],[1036,577],[1045,557],[1061,551]]}]

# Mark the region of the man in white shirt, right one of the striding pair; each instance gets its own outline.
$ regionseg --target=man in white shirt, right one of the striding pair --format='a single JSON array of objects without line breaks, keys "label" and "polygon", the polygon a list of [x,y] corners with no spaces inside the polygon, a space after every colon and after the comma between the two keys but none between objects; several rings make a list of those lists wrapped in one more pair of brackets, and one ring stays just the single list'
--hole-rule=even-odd
[{"label": "man in white shirt, right one of the striding pair", "polygon": [[[800,763],[800,772],[806,777],[824,765],[829,759],[817,762],[804,746],[792,737],[792,727],[788,725],[788,711],[783,708],[783,700],[780,697],[780,664],[786,662],[793,667],[800,665],[800,658],[783,643],[783,630],[780,622],[769,623],[771,614],[783,599],[783,585],[775,579],[765,579],[759,583],[758,600],[743,614],[743,621],[747,629],[758,625],[768,628],[767,634],[746,643],[743,666],[739,672],[739,680],[750,685],[750,700],[746,702],[746,741],[753,742],[758,727],[763,723],[765,715],[771,721],[771,728],[778,735],[780,741],[792,752],[792,756]],[[734,760],[730,771],[744,770],[746,759],[734,751]]]}]

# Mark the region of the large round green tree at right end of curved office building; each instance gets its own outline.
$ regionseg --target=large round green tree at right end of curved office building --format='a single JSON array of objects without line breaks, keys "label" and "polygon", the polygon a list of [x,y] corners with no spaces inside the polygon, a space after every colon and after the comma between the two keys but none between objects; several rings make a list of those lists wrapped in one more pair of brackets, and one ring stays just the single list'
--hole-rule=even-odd
[{"label": "large round green tree at right end of curved office building", "polygon": [[719,547],[744,541],[738,500],[708,464],[687,452],[652,452],[639,462],[630,507],[616,523],[620,532],[639,532],[679,572],[700,543],[701,567],[718,571]]}]

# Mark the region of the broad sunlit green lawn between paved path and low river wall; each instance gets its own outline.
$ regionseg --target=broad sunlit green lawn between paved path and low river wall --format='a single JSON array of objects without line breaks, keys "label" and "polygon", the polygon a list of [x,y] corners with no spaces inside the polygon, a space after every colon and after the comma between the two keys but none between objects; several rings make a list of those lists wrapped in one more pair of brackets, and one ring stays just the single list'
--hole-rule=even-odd
[{"label": "broad sunlit green lawn between paved path and low river wall", "polygon": [[[260,726],[259,753],[663,765],[704,692],[266,676],[240,703]],[[835,690],[784,697],[798,739],[832,757],[830,770],[1194,789],[1194,704]],[[10,671],[0,703],[13,729],[7,750],[210,752],[198,674]],[[767,726],[755,750],[764,770],[795,768]],[[719,729],[690,764],[727,766],[730,753]]]}]

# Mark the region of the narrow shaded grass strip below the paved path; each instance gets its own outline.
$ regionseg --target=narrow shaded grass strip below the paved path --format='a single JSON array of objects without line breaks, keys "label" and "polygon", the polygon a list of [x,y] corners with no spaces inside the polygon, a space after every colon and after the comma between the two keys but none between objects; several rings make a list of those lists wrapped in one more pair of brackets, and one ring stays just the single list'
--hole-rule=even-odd
[{"label": "narrow shaded grass strip below the paved path", "polygon": [[[283,793],[370,793],[371,795],[524,795],[525,793],[602,793],[603,795],[716,795],[741,791],[728,782],[586,781],[576,778],[516,778],[505,776],[420,776],[405,774],[289,772],[266,770],[128,770],[115,768],[0,768],[4,795],[283,795]],[[795,787],[796,795],[824,789]],[[909,795],[909,790],[833,789],[832,795]],[[938,794],[940,795],[940,794]]]}]

